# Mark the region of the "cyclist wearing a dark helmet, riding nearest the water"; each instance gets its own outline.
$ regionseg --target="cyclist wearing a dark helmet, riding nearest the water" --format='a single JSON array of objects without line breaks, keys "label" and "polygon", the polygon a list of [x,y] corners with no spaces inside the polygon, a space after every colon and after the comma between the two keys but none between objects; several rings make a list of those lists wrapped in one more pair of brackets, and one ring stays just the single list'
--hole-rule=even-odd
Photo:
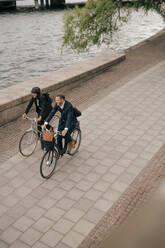
[{"label": "cyclist wearing a dark helmet, riding nearest the water", "polygon": [[[26,118],[27,114],[29,113],[33,103],[36,107],[36,112],[38,114],[37,123],[38,123],[38,130],[41,131],[41,125],[44,124],[45,119],[50,114],[52,110],[52,100],[49,97],[48,93],[41,93],[39,87],[34,87],[31,90],[32,98],[29,101],[29,104],[26,107],[25,113],[23,114],[23,118]],[[39,133],[38,133],[39,135]]]}]

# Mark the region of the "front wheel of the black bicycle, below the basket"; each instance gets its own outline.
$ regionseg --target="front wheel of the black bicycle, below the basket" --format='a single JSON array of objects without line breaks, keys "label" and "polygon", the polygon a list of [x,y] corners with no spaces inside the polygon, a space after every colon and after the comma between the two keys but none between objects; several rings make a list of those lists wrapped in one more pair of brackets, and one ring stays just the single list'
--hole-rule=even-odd
[{"label": "front wheel of the black bicycle, below the basket", "polygon": [[40,174],[43,178],[49,179],[53,175],[57,161],[58,153],[56,150],[45,152],[40,164]]}]

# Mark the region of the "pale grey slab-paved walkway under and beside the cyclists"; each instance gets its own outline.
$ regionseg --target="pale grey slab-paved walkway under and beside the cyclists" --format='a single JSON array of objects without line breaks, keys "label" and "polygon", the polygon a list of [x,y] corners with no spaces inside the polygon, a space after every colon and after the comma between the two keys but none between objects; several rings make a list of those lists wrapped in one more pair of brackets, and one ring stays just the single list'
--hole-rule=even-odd
[{"label": "pale grey slab-paved walkway under and beside the cyclists", "polygon": [[165,141],[165,61],[84,111],[80,152],[48,181],[42,152],[0,166],[0,247],[78,247]]}]

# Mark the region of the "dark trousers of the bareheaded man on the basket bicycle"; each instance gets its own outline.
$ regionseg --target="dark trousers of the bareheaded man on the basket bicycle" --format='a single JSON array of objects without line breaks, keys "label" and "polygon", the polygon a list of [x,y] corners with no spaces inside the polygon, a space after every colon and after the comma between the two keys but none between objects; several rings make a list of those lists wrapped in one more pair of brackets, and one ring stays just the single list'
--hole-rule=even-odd
[{"label": "dark trousers of the bareheaded man on the basket bicycle", "polygon": [[[66,152],[67,150],[67,146],[68,146],[68,143],[72,141],[72,137],[71,137],[71,133],[73,132],[75,127],[72,127],[70,128],[66,135],[65,136],[62,136],[62,135],[58,135],[57,137],[57,144],[58,144],[58,149],[59,149],[59,153],[60,154],[63,154]],[[63,130],[60,130],[60,132],[62,132]],[[65,140],[65,144],[64,144],[64,147],[63,147],[63,144],[62,144],[62,139]]]}]

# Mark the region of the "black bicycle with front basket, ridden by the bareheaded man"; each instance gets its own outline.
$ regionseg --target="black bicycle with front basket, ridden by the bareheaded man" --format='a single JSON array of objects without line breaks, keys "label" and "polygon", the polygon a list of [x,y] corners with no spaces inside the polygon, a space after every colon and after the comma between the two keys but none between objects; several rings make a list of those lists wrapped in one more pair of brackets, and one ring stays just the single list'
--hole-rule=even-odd
[{"label": "black bicycle with front basket, ridden by the bareheaded man", "polygon": [[[40,164],[40,174],[43,178],[49,179],[57,166],[57,162],[60,158],[60,153],[58,150],[57,145],[57,136],[61,135],[61,133],[57,130],[54,130],[54,139],[50,143],[50,147],[45,152],[41,164]],[[74,147],[69,152],[68,149],[66,151],[66,154],[69,154],[70,156],[73,156],[76,154],[79,150],[80,144],[81,144],[81,129],[80,129],[80,122],[77,122],[75,129],[71,133],[72,140],[74,140]]]}]

